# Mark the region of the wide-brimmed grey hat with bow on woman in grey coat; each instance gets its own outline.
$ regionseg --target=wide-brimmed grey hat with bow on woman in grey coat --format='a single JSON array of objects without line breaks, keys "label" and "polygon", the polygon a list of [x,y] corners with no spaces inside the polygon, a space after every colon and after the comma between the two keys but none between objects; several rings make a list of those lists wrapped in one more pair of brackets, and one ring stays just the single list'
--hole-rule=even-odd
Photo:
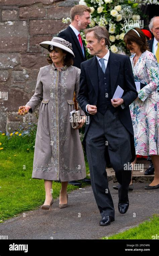
[{"label": "wide-brimmed grey hat with bow on woman in grey coat", "polygon": [[51,41],[44,41],[42,43],[39,43],[39,45],[47,50],[49,45],[53,45],[65,50],[66,52],[73,55],[73,57],[75,57],[74,53],[72,52],[72,44],[61,37],[53,37]]}]

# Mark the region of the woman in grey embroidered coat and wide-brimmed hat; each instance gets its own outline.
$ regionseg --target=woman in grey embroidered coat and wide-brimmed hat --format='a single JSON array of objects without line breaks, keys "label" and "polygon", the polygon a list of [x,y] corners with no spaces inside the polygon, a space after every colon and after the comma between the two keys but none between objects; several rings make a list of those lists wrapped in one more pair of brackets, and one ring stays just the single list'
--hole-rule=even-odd
[{"label": "woman in grey embroidered coat and wide-brimmed hat", "polygon": [[73,129],[70,123],[70,111],[74,110],[74,91],[76,98],[79,91],[80,69],[68,64],[64,66],[70,61],[72,63],[71,55],[74,56],[69,42],[54,37],[52,41],[45,41],[40,45],[50,51],[49,61],[52,64],[40,68],[35,94],[23,106],[27,113],[33,113],[41,103],[32,178],[45,180],[46,204],[51,200],[49,194],[52,181],[61,181],[61,190],[65,194],[65,198],[63,196],[62,199],[61,196],[63,204],[66,202],[68,181],[86,177],[84,153],[78,131],[85,123],[86,115],[79,105],[78,109],[83,116],[81,124]]}]

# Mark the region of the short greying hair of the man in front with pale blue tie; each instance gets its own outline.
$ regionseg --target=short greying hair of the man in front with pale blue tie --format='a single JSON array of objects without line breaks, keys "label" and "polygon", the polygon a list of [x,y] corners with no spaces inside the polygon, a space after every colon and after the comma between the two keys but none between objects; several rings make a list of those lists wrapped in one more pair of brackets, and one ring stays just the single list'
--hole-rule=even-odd
[{"label": "short greying hair of the man in front with pale blue tie", "polygon": [[85,36],[92,31],[94,31],[95,38],[97,38],[98,41],[100,41],[102,38],[104,38],[105,45],[108,45],[108,46],[110,45],[109,32],[104,26],[95,26],[93,28],[85,29],[84,30]]}]

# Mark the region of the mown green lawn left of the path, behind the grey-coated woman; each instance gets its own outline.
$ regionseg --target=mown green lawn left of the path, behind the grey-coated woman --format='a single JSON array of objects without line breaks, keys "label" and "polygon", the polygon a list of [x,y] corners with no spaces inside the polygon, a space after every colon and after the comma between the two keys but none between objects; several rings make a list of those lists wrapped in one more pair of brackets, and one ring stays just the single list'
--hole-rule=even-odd
[{"label": "mown green lawn left of the path, behind the grey-coated woman", "polygon": [[[0,221],[38,209],[45,201],[44,180],[32,179],[33,150],[0,151]],[[89,170],[86,163],[87,173]],[[83,185],[84,186],[84,185]],[[86,184],[85,184],[86,186]],[[53,198],[59,197],[61,184],[53,182]],[[68,185],[68,192],[77,189]]]}]

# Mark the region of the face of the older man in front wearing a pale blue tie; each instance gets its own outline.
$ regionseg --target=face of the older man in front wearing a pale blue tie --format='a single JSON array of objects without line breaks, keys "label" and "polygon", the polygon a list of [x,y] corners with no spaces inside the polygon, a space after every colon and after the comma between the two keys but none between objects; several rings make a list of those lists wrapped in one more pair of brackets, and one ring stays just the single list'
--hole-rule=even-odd
[{"label": "face of the older man in front wearing a pale blue tie", "polygon": [[[101,41],[98,41],[94,36],[94,31],[87,33],[86,35],[87,48],[90,49],[91,55],[99,55],[103,50],[103,46],[101,45]],[[104,46],[105,47],[105,46]]]}]

